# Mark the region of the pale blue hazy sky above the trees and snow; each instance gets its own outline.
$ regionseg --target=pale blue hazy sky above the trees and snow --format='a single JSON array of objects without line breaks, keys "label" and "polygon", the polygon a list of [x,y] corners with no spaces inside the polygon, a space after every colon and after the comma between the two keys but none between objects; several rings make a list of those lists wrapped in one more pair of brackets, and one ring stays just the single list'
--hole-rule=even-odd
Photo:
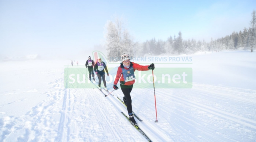
[{"label": "pale blue hazy sky above the trees and snow", "polygon": [[104,44],[104,26],[117,14],[136,41],[210,41],[249,27],[255,0],[218,1],[82,1],[0,0],[0,57],[88,58]]}]

